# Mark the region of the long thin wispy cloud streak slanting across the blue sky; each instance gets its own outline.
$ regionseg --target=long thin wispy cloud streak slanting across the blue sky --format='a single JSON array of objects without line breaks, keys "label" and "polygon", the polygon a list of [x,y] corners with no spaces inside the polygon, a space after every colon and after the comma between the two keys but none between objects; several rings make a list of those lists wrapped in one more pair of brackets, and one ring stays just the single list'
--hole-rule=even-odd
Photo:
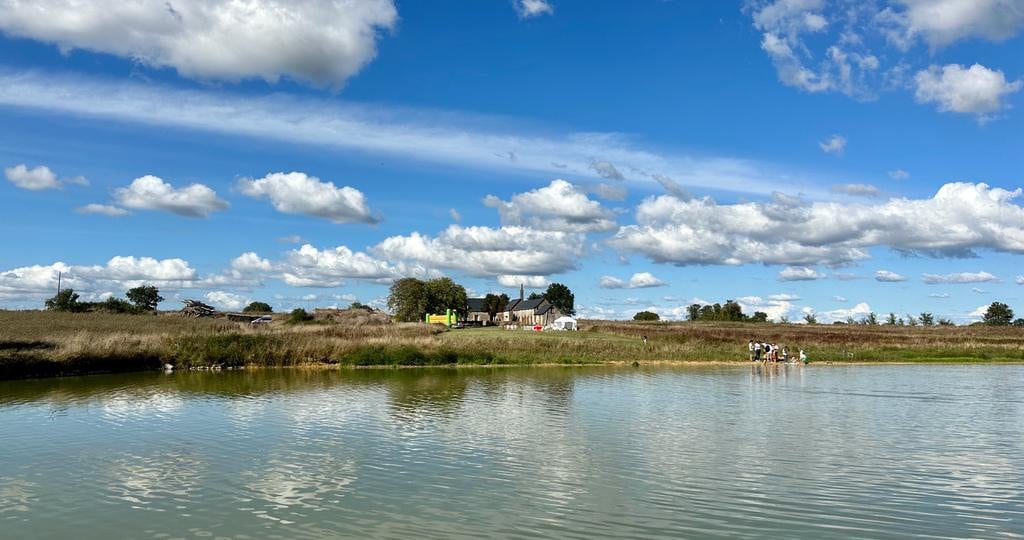
[{"label": "long thin wispy cloud streak slanting across the blue sky", "polygon": [[[68,99],[68,95],[75,99]],[[658,154],[638,148],[632,138],[617,133],[545,131],[539,135],[522,130],[497,131],[480,127],[495,125],[486,118],[336,99],[252,97],[210,88],[172,89],[157,84],[0,70],[0,105],[484,170],[601,178],[591,164],[593,156],[602,156],[622,166],[615,169],[620,175],[635,181],[653,181],[642,171],[656,170],[695,188],[767,195],[780,189],[779,178],[784,177],[787,190],[807,194],[821,191],[819,177],[781,170],[770,163]],[[502,154],[509,148],[516,149],[515,161]]]}]

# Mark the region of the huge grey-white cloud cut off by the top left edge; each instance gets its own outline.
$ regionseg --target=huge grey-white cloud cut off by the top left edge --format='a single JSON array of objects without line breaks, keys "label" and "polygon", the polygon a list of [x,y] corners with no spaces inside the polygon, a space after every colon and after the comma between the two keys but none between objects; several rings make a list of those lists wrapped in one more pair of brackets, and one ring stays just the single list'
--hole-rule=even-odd
[{"label": "huge grey-white cloud cut off by the top left edge", "polygon": [[0,30],[197,79],[287,76],[337,88],[397,19],[392,0],[10,0]]}]

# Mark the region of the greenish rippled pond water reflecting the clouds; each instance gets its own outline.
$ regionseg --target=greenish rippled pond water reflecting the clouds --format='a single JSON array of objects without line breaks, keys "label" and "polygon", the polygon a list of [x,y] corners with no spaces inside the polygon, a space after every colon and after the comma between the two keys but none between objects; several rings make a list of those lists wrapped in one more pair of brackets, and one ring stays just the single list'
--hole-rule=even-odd
[{"label": "greenish rippled pond water reflecting the clouds", "polygon": [[1022,366],[0,381],[2,538],[1022,535]]}]

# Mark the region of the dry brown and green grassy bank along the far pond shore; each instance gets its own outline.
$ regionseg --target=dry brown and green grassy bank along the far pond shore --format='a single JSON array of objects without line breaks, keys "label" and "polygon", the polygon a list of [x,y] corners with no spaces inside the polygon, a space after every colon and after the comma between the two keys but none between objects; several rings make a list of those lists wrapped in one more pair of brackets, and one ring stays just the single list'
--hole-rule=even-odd
[{"label": "dry brown and green grassy bank along the far pond shore", "polygon": [[[644,344],[641,337],[647,336]],[[815,362],[1024,362],[1024,330],[587,321],[580,332],[445,331],[353,314],[251,328],[223,319],[0,311],[0,378],[234,366],[742,362],[752,338]]]}]

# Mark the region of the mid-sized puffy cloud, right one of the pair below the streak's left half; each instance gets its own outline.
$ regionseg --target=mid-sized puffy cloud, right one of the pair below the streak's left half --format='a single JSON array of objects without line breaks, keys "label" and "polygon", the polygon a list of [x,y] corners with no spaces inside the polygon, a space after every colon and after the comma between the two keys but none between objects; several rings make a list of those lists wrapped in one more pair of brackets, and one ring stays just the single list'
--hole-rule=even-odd
[{"label": "mid-sized puffy cloud, right one of the pair below the streak's left half", "polygon": [[274,172],[258,179],[239,180],[240,191],[249,197],[267,197],[279,212],[305,214],[335,223],[376,223],[380,221],[367,206],[362,192],[348,185],[338,188],[303,172]]}]

